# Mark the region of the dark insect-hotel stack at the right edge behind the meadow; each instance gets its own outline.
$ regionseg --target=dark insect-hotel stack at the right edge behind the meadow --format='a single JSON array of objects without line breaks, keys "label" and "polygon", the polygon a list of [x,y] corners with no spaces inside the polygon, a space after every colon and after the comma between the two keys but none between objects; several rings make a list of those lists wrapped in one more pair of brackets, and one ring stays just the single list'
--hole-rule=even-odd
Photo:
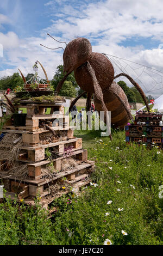
[{"label": "dark insect-hotel stack at the right edge behind the meadow", "polygon": [[126,142],[143,143],[163,149],[162,114],[137,113],[134,123],[126,125]]}]

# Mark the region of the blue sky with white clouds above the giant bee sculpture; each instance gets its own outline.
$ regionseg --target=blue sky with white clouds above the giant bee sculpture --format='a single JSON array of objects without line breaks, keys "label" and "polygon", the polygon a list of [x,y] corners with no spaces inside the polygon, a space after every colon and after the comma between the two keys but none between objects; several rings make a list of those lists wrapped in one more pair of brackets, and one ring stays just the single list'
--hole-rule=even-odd
[{"label": "blue sky with white clouds above the giant bee sculpture", "polygon": [[[40,44],[53,48],[65,45],[53,41],[47,33],[67,43],[83,36],[90,40],[94,52],[109,53],[163,72],[163,47],[159,47],[163,43],[162,10],[161,0],[1,1],[0,77],[12,75],[18,68],[27,75],[38,59],[52,79],[57,66],[62,64],[63,51],[47,50]],[[126,66],[120,60],[117,63]],[[150,73],[151,79],[147,72],[136,68],[130,63],[126,70],[140,78],[145,92],[156,83],[152,94],[163,93],[158,90],[162,87],[160,75]],[[43,76],[41,70],[40,75]]]}]

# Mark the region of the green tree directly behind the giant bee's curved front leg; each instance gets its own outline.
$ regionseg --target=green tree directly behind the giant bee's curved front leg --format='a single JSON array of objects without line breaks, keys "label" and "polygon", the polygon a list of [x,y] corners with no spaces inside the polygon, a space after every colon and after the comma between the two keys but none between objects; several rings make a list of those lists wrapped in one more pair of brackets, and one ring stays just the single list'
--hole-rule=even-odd
[{"label": "green tree directly behind the giant bee's curved front leg", "polygon": [[[55,75],[53,77],[53,80],[51,81],[52,86],[54,86],[54,89],[56,89],[57,84],[60,82],[60,80],[64,77],[64,66],[59,65],[57,67],[57,71],[55,72]],[[72,83],[72,86],[74,88],[78,87],[78,84],[74,78],[74,73],[72,72],[67,78],[66,81],[70,81]]]}]

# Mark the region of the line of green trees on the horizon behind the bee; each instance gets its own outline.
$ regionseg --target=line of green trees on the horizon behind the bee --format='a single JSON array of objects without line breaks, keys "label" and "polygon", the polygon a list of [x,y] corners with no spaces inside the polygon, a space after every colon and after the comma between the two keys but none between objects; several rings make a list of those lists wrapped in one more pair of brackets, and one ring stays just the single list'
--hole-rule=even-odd
[{"label": "line of green trees on the horizon behind the bee", "polygon": [[[26,81],[29,81],[30,78],[34,76],[34,74],[28,74],[26,76]],[[57,67],[57,71],[54,74],[53,79],[51,80],[51,85],[56,89],[57,84],[59,81],[64,77],[64,67],[63,65],[59,65]],[[143,99],[139,92],[137,92],[135,87],[128,87],[127,84],[124,81],[118,82],[119,86],[124,90],[124,93],[126,93],[128,101],[130,103],[134,102],[140,102],[143,103]],[[11,90],[14,90],[17,86],[23,86],[23,80],[22,77],[17,73],[14,73],[12,76],[5,76],[0,78],[0,90],[7,90],[10,88]],[[61,96],[68,96],[68,97],[76,97],[80,95],[83,92],[81,88],[79,88],[75,78],[74,73],[72,72],[64,82],[59,95]],[[86,97],[86,95],[84,96]],[[152,95],[146,95],[148,103],[153,99]]]}]

